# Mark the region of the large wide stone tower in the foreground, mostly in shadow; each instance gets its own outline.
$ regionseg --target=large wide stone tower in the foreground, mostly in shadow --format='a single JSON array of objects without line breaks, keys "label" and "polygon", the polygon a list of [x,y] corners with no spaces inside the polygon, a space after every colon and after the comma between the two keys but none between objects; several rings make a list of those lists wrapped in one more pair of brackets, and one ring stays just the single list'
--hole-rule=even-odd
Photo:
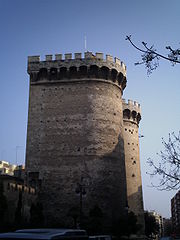
[{"label": "large wide stone tower in the foreground, mostly in shadow", "polygon": [[[127,202],[125,65],[101,53],[57,54],[29,57],[28,73],[26,175],[39,185],[47,225],[70,226],[72,209],[88,216],[98,206],[111,227]],[[77,186],[86,194],[77,195]]]}]

